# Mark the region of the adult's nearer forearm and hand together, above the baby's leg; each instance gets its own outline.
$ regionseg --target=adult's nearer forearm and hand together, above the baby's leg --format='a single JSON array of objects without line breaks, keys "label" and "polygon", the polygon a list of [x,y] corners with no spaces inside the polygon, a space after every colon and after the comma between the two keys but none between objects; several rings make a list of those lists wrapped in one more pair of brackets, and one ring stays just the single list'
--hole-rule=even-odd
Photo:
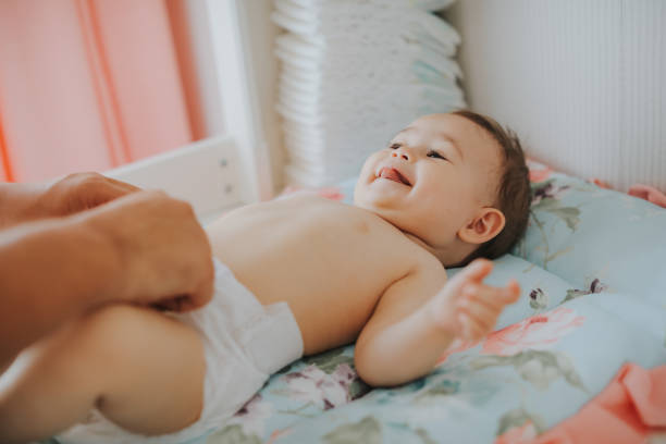
[{"label": "adult's nearer forearm and hand together, above the baby's leg", "polygon": [[[121,194],[127,190],[120,187]],[[2,208],[13,208],[11,200],[30,200],[23,199],[30,187],[13,189],[3,193],[0,215]],[[61,200],[66,201],[72,202]],[[130,193],[87,211],[33,222],[15,223],[15,213],[10,215],[1,222],[15,226],[0,230],[0,368],[67,319],[100,305],[131,301],[183,311],[211,297],[208,238],[189,205],[163,193]]]}]

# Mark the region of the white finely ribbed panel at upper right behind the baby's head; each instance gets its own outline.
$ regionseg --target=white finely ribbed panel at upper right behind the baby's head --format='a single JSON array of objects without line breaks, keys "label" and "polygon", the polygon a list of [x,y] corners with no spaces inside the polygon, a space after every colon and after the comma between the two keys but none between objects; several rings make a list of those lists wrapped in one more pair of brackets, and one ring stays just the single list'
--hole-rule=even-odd
[{"label": "white finely ribbed panel at upper right behind the baby's head", "polygon": [[464,0],[446,16],[468,102],[528,155],[666,190],[666,1]]}]

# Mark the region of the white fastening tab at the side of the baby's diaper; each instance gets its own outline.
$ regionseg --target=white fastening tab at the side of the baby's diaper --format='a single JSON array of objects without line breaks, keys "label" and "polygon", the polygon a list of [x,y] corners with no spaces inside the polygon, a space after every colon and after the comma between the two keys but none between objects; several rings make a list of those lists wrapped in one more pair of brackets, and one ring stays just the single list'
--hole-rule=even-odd
[{"label": "white fastening tab at the side of the baby's diaper", "polygon": [[303,356],[303,335],[287,303],[263,307],[238,342],[259,371],[271,374]]}]

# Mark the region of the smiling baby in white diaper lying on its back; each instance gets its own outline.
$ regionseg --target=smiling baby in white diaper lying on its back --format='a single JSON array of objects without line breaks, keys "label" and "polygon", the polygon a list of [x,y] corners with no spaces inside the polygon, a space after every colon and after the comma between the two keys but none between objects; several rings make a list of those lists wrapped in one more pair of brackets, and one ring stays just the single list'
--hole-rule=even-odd
[{"label": "smiling baby in white diaper lying on its back", "polygon": [[[354,206],[297,195],[210,224],[205,308],[109,306],[25,350],[0,379],[0,442],[67,428],[65,443],[187,441],[283,366],[354,341],[368,384],[428,374],[518,299],[516,281],[483,284],[492,262],[473,259],[511,248],[529,201],[513,133],[470,111],[420,118],[366,160]],[[447,282],[445,267],[470,261]]]}]

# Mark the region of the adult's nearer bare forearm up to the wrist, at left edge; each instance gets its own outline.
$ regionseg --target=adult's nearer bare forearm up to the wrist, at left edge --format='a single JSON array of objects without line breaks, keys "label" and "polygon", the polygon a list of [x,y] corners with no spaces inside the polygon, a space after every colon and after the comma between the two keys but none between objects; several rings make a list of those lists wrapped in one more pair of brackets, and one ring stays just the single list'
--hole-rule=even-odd
[{"label": "adult's nearer bare forearm up to the wrist, at left edge", "polygon": [[82,218],[0,232],[0,365],[64,320],[110,299],[120,267],[113,245]]}]

